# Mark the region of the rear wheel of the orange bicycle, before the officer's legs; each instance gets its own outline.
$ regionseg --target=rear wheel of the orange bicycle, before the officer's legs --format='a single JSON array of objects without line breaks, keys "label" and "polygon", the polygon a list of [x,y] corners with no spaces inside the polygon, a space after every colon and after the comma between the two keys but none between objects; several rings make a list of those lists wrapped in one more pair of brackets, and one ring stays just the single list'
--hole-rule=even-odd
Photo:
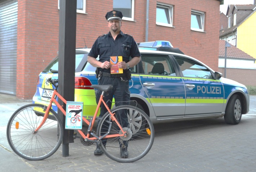
[{"label": "rear wheel of the orange bicycle, before the officer's legs", "polygon": [[[125,136],[102,139],[100,148],[107,157],[116,162],[134,162],[144,157],[151,149],[155,132],[154,126],[145,112],[131,105],[120,105],[110,110],[122,126],[120,116],[128,116],[128,126],[122,126]],[[141,126],[143,124],[143,126]],[[100,120],[97,134],[102,137],[122,134],[118,124],[111,119],[107,112]],[[121,153],[121,150],[123,153]]]}]

